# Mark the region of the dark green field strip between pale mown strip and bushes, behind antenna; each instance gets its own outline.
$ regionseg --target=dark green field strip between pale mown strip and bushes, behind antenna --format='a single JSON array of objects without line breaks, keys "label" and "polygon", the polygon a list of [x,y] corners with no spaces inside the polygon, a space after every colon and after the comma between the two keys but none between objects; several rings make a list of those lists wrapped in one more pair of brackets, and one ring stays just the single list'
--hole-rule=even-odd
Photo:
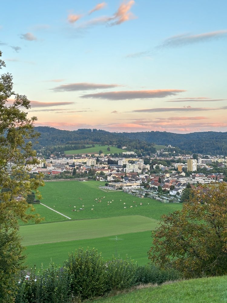
[{"label": "dark green field strip between pale mown strip and bushes, behind antenna", "polygon": [[[110,240],[117,236],[123,240]],[[152,238],[151,232],[140,231],[135,233],[117,234],[83,240],[72,240],[64,242],[46,243],[38,245],[29,245],[25,253],[28,255],[26,264],[28,268],[36,265],[37,268],[48,266],[50,262],[62,265],[68,258],[68,253],[74,252],[76,248],[83,247],[84,249],[96,248],[102,253],[105,260],[110,260],[114,255],[116,257],[126,258],[126,255],[135,260],[139,265],[148,263],[147,251],[150,249]]]}]

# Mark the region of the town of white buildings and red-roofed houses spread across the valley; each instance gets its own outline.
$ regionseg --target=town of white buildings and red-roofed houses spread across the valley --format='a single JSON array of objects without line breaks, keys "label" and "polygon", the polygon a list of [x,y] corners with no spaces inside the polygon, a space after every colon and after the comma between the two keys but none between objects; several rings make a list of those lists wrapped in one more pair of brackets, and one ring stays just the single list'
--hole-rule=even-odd
[{"label": "town of white buildings and red-roofed houses spread across the valley", "polygon": [[[156,154],[138,157],[134,151],[126,151],[125,147],[122,149],[121,156],[97,153],[60,157],[51,154],[44,160],[38,155],[40,165],[31,167],[31,174],[41,172],[46,180],[88,178],[104,181],[106,189],[146,189],[143,193],[138,192],[138,195],[165,202],[179,202],[188,184],[193,188],[198,184],[225,181],[223,173],[210,172],[214,164],[216,168],[226,168],[227,157],[222,155],[196,154],[197,159],[193,159],[192,155],[181,154],[163,157],[165,151],[161,149]],[[203,172],[197,172],[201,169]],[[165,197],[160,197],[162,194]]]}]

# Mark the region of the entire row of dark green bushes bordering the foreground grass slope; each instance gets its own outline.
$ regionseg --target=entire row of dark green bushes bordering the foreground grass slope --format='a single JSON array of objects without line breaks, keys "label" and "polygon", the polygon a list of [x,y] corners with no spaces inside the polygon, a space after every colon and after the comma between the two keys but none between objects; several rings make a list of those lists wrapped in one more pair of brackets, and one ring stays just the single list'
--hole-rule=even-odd
[{"label": "entire row of dark green bushes bordering the foreground grass slope", "polygon": [[161,284],[180,278],[178,271],[162,270],[150,263],[138,266],[132,260],[104,261],[97,250],[79,248],[62,267],[51,264],[21,277],[15,303],[70,303],[94,299],[139,284]]}]

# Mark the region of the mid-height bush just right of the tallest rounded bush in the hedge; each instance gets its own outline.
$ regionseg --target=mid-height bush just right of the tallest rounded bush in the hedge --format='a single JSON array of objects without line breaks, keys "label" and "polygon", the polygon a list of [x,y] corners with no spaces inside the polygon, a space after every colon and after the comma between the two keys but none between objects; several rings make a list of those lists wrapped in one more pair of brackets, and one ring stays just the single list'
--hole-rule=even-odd
[{"label": "mid-height bush just right of the tallest rounded bush in the hedge", "polygon": [[112,259],[106,263],[107,290],[122,290],[136,284],[137,264],[132,260]]}]

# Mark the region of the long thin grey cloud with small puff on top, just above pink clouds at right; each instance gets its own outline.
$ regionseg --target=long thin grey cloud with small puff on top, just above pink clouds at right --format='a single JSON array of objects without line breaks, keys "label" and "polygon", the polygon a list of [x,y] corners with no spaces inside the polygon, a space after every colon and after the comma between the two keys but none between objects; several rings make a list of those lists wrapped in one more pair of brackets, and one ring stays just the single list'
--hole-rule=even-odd
[{"label": "long thin grey cloud with small puff on top, just above pink clouds at right", "polygon": [[214,111],[218,109],[218,107],[208,108],[208,107],[191,107],[191,106],[184,106],[184,107],[160,107],[160,108],[146,108],[146,109],[135,109],[131,112],[200,112],[200,111]]}]

